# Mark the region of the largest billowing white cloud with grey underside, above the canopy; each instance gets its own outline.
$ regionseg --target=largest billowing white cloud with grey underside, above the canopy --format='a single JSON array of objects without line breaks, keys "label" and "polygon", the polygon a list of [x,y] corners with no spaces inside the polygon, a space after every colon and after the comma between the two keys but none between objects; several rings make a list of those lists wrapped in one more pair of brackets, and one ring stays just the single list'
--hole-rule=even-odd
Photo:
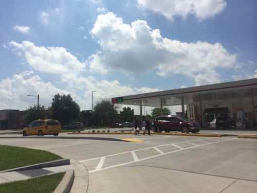
[{"label": "largest billowing white cloud with grey underside, above the canopy", "polygon": [[92,71],[99,66],[103,72],[154,70],[163,77],[185,75],[200,85],[220,82],[217,69],[234,67],[237,61],[236,55],[230,54],[221,43],[163,38],[160,30],[151,29],[146,21],[125,24],[112,12],[98,15],[90,33],[101,46],[100,51],[90,56]]}]

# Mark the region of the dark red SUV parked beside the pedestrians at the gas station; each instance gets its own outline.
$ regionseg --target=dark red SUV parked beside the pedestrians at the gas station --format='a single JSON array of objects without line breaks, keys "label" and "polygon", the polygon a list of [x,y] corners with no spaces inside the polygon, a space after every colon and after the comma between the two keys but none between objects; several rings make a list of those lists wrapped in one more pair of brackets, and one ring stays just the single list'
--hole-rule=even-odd
[{"label": "dark red SUV parked beside the pedestrians at the gas station", "polygon": [[183,133],[197,133],[200,125],[197,122],[187,121],[179,116],[161,115],[154,120],[154,132],[182,131]]}]

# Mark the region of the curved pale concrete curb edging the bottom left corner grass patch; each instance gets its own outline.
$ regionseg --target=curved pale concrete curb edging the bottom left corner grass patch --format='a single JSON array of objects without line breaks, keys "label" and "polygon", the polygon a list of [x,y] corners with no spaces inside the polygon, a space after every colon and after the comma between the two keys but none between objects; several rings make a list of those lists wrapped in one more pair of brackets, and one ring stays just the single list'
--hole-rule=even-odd
[{"label": "curved pale concrete curb edging the bottom left corner grass patch", "polygon": [[74,182],[74,170],[68,170],[64,174],[62,181],[59,183],[57,188],[53,191],[53,193],[69,193],[72,184]]}]

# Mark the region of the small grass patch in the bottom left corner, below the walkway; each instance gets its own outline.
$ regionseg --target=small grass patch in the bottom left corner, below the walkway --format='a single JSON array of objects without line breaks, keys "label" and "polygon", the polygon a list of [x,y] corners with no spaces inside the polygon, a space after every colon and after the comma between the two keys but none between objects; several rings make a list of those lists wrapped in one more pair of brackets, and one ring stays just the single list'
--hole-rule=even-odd
[{"label": "small grass patch in the bottom left corner, below the walkway", "polygon": [[65,172],[29,180],[0,184],[1,193],[51,193],[63,179]]}]

